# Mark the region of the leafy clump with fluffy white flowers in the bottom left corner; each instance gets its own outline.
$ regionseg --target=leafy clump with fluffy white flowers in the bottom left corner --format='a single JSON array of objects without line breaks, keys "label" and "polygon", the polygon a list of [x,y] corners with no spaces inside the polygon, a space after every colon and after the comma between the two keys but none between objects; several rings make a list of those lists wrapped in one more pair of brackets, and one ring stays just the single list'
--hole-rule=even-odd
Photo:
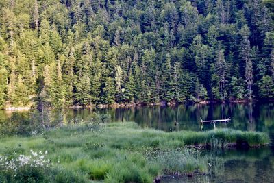
[{"label": "leafy clump with fluffy white flowers in the bottom left corner", "polygon": [[[24,154],[9,154],[9,157],[0,156],[1,182],[86,182],[75,173],[49,162],[46,159],[47,151]],[[11,158],[11,156],[13,156]]]}]

